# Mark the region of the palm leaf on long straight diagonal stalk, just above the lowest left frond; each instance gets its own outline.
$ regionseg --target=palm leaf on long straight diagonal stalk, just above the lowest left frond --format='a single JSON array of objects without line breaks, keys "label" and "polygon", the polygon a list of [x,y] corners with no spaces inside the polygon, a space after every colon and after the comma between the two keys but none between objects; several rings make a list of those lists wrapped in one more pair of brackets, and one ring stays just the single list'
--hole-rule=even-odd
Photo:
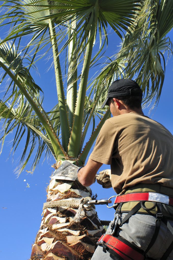
[{"label": "palm leaf on long straight diagonal stalk, just above the lowest left frond", "polygon": [[[23,95],[26,97],[26,99],[29,101],[30,103],[30,108],[34,108],[36,114],[39,116],[39,118],[41,119],[41,122],[43,124],[43,126],[46,129],[46,132],[50,138],[50,140],[52,141],[52,145],[54,147],[54,155],[55,157],[61,155],[64,156],[64,150],[61,147],[61,144],[56,136],[56,133],[53,132],[53,127],[51,125],[51,121],[49,120],[47,114],[44,112],[44,109],[41,107],[40,102],[39,102],[39,94],[35,95],[35,92],[33,91],[33,84],[31,84],[31,82],[34,82],[32,77],[30,76],[28,70],[24,70],[23,67],[21,66],[22,64],[22,59],[19,55],[13,55],[16,54],[15,48],[4,48],[5,44],[1,44],[1,52],[0,52],[0,66],[5,70],[5,73],[8,74],[10,76],[10,78],[14,81],[14,83],[16,84],[16,90],[12,91],[12,94],[10,94],[10,97],[8,98],[12,100],[11,103],[11,107],[9,109],[9,112],[11,111],[11,109],[15,106],[16,102],[18,102],[17,100],[20,100],[20,113],[23,111],[23,106],[24,106],[24,98]],[[8,45],[6,44],[5,47],[7,47]],[[5,52],[5,51],[6,52]],[[10,57],[11,55],[13,55],[13,63],[10,62]],[[6,67],[5,64],[8,65],[8,67]],[[16,67],[14,67],[14,64],[16,65]],[[14,73],[11,73],[11,71]],[[19,73],[20,72],[20,73]],[[29,78],[29,80],[28,80]],[[26,84],[28,83],[28,84]],[[34,83],[35,84],[35,83]],[[35,86],[35,85],[34,85]],[[20,89],[21,93],[19,94],[17,87]],[[29,87],[29,88],[28,88]],[[9,88],[8,88],[9,89]],[[40,88],[39,88],[40,89]],[[28,92],[27,92],[28,91]],[[16,94],[17,93],[17,94]],[[28,94],[29,93],[29,94]],[[19,98],[20,96],[20,98]],[[8,118],[8,115],[7,115]]]}]

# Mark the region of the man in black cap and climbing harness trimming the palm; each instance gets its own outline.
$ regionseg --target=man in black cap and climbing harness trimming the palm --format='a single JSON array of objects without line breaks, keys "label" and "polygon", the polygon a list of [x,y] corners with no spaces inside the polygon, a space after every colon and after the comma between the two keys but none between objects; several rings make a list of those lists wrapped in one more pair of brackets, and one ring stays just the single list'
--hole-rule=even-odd
[{"label": "man in black cap and climbing harness trimming the palm", "polygon": [[[108,105],[113,117],[78,172],[78,180],[89,186],[102,164],[110,164],[111,185],[120,193],[114,223],[99,239],[92,260],[173,259],[173,136],[144,116],[142,96],[131,79],[111,84],[102,108]],[[103,187],[107,177],[109,170],[98,178]]]}]

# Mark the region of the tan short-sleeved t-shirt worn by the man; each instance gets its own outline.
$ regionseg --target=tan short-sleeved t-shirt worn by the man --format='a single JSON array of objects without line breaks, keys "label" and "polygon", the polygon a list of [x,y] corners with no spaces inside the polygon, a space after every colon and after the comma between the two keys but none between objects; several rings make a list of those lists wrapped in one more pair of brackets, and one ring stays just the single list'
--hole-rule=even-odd
[{"label": "tan short-sleeved t-shirt worn by the man", "polygon": [[138,183],[173,188],[173,136],[147,116],[131,112],[106,120],[89,158],[111,165],[116,193]]}]

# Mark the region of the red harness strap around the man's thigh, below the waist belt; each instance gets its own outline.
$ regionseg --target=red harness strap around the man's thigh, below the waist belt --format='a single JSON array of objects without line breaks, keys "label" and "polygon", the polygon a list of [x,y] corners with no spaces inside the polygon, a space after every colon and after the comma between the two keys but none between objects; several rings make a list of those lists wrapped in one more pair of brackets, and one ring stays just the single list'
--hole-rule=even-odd
[{"label": "red harness strap around the man's thigh, below the waist belt", "polygon": [[144,255],[111,235],[102,235],[97,244],[106,245],[106,247],[113,250],[124,260],[144,260]]}]

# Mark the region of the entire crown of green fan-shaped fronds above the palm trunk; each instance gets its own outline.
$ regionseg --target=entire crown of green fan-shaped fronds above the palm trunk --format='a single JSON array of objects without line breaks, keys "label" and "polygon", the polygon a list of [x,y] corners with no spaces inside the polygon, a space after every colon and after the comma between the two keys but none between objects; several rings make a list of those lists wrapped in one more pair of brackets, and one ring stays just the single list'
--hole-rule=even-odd
[{"label": "entire crown of green fan-shaped fronds above the palm trunk", "polygon": [[[21,170],[35,153],[34,168],[43,152],[56,159],[78,158],[83,164],[109,117],[101,105],[114,80],[136,79],[144,101],[159,100],[166,54],[172,53],[166,35],[173,27],[173,1],[7,0],[1,6],[0,26],[9,30],[0,42],[0,83],[7,86],[0,102],[1,141],[3,147],[5,136],[14,131],[16,152],[25,139]],[[110,29],[122,44],[106,60]],[[30,68],[50,53],[58,104],[45,112],[42,90]],[[89,71],[103,59],[100,71],[89,79]],[[89,130],[90,140],[84,144]]]}]

